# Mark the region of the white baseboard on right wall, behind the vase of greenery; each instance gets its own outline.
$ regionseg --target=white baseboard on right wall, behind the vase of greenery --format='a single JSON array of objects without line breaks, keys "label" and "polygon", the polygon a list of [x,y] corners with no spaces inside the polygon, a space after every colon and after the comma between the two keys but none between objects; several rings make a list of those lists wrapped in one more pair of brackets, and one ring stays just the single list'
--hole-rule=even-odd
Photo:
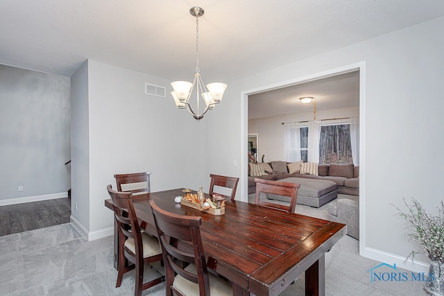
[{"label": "white baseboard on right wall, behind the vase of greenery", "polygon": [[426,274],[429,272],[429,263],[415,260],[415,263],[413,264],[411,263],[411,260],[409,260],[404,264],[405,257],[382,252],[380,250],[375,250],[371,247],[364,247],[364,254],[361,254],[361,256],[375,261],[387,263],[389,265],[393,265],[393,263],[396,263],[399,268],[412,272],[425,272]]}]

